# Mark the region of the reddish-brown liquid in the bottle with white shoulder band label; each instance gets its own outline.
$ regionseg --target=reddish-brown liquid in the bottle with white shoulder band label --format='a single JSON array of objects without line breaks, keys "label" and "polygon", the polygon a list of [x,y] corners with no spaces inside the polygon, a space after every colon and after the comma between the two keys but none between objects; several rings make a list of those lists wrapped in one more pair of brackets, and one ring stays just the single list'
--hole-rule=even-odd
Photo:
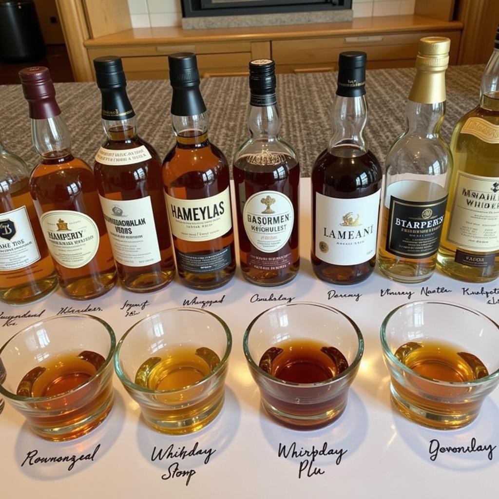
[{"label": "reddish-brown liquid in the bottle with white shoulder band label", "polygon": [[116,261],[118,276],[130,291],[147,292],[166,286],[175,275],[175,262],[170,242],[170,228],[166,212],[161,160],[154,148],[121,127],[110,130],[106,149],[124,150],[145,146],[151,159],[132,165],[103,165],[95,162],[94,175],[99,194],[107,199],[128,201],[150,197],[161,260],[147,266],[130,266]]}]

